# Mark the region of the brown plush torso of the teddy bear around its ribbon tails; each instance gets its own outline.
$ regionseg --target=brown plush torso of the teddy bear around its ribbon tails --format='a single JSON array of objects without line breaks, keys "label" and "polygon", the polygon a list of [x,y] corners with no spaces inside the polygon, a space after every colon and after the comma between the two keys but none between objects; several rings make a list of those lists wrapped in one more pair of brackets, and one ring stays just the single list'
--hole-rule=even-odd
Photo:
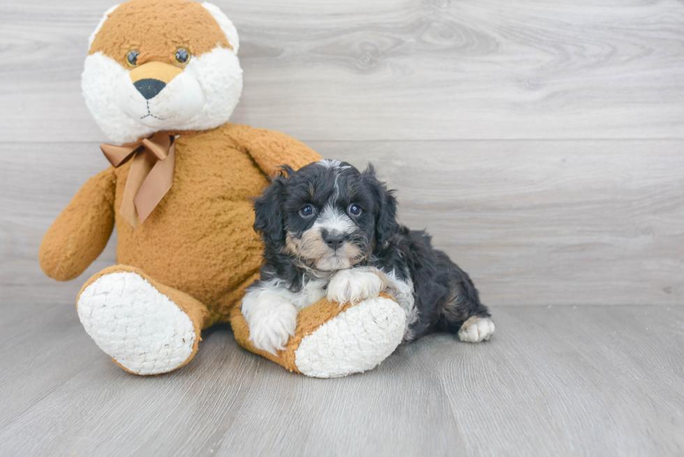
[{"label": "brown plush torso of the teddy bear around its ribbon tails", "polygon": [[[117,168],[117,263],[227,317],[261,264],[251,198],[268,185],[251,157],[224,135],[228,126],[177,136],[174,183],[133,230],[119,208],[130,165]],[[217,153],[221,151],[221,153]]]}]

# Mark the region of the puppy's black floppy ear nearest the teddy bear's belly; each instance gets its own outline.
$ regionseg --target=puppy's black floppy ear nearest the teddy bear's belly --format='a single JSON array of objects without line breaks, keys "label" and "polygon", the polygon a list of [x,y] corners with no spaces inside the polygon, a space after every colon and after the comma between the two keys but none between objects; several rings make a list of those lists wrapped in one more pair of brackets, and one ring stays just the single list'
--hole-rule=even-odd
[{"label": "puppy's black floppy ear nearest the teddy bear's belly", "polygon": [[[286,170],[285,170],[286,171]],[[285,244],[283,203],[285,201],[283,174],[276,176],[260,197],[254,199],[254,231],[267,246],[281,248]]]}]

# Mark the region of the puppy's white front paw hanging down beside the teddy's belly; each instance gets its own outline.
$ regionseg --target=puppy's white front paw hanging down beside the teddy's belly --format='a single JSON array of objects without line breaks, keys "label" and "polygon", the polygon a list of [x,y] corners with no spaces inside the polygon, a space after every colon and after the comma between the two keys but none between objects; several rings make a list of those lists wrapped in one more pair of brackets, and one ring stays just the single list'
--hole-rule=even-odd
[{"label": "puppy's white front paw hanging down beside the teddy's belly", "polygon": [[297,328],[297,308],[288,298],[287,290],[257,284],[250,287],[242,299],[242,315],[249,327],[249,340],[254,347],[277,355],[285,349]]}]

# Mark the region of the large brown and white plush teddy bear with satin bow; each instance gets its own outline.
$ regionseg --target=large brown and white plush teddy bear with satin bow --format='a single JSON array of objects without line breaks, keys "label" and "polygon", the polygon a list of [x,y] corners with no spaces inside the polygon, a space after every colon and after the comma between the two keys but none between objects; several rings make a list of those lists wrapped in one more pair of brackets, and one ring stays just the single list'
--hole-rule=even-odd
[{"label": "large brown and white plush teddy bear with satin bow", "polygon": [[239,38],[211,3],[131,0],[89,39],[83,95],[111,144],[45,234],[40,266],[76,278],[117,227],[117,264],[84,283],[80,322],[115,364],[158,375],[188,364],[202,329],[230,322],[237,342],[290,371],[337,377],[377,366],[401,343],[406,315],[387,296],[302,310],[272,354],[251,344],[240,312],[259,276],[252,198],[278,167],[320,156],[283,133],[228,122],[239,101]]}]

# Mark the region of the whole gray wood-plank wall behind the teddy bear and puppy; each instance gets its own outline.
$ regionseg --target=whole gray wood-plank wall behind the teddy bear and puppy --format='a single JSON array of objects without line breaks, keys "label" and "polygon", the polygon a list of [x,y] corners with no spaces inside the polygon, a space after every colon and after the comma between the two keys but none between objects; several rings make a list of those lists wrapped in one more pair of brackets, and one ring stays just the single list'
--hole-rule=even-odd
[{"label": "whole gray wood-plank wall behind the teddy bear and puppy", "polygon": [[[681,1],[216,0],[232,121],[372,161],[493,305],[682,304]],[[107,166],[80,95],[112,0],[0,3],[0,303],[73,305],[36,261]]]}]

